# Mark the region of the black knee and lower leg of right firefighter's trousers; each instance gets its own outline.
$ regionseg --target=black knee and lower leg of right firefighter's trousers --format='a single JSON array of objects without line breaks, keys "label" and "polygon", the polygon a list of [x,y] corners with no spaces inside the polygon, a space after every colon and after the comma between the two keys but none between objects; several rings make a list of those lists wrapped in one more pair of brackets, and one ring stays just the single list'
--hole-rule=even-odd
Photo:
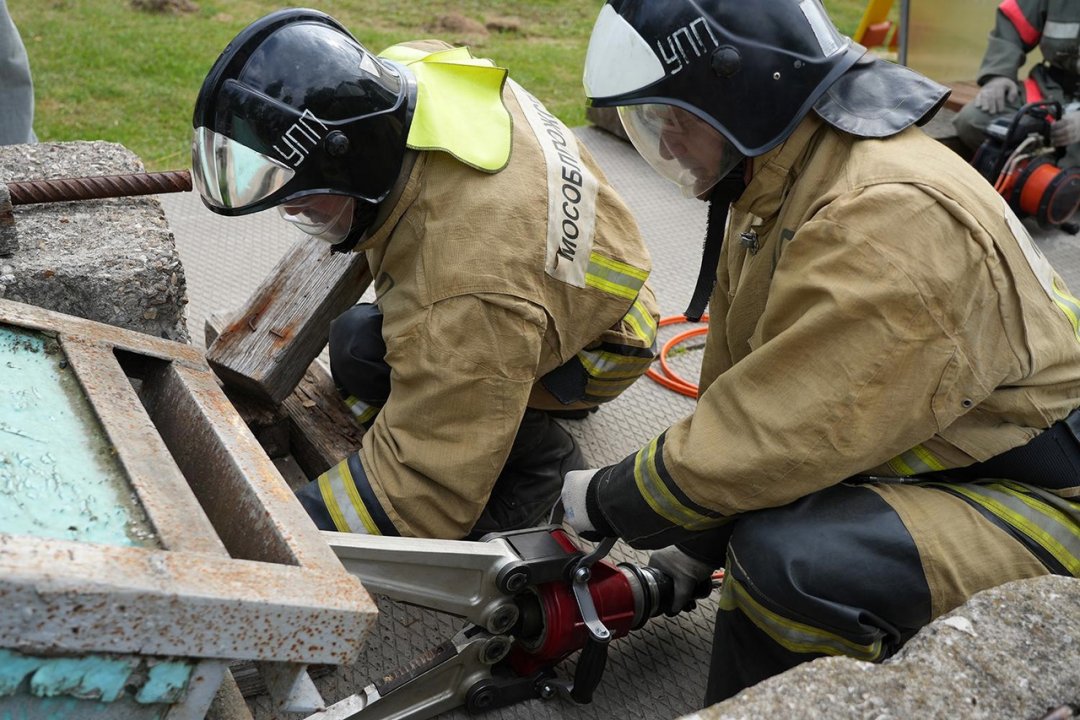
[{"label": "black knee and lower leg of right firefighter's trousers", "polygon": [[932,616],[912,533],[864,486],[738,517],[725,568],[708,703],[819,655],[882,660]]}]

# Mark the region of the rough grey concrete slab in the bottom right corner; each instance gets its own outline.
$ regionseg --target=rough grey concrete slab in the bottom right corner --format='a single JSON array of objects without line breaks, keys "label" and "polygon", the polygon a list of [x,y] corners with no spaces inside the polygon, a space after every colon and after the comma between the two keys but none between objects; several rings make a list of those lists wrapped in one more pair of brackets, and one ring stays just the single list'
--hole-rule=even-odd
[{"label": "rough grey concrete slab in the bottom right corner", "polygon": [[821,657],[684,720],[1043,718],[1080,704],[1078,608],[1075,578],[1005,583],[930,623],[879,665]]}]

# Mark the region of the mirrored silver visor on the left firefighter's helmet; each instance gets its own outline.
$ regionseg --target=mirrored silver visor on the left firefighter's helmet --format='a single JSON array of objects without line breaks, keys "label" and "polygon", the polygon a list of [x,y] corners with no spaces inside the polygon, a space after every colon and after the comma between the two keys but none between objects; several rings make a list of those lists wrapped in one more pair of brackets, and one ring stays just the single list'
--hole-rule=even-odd
[{"label": "mirrored silver visor on the left firefighter's helmet", "polygon": [[280,161],[208,127],[191,141],[191,180],[213,207],[243,209],[281,190],[296,174]]}]

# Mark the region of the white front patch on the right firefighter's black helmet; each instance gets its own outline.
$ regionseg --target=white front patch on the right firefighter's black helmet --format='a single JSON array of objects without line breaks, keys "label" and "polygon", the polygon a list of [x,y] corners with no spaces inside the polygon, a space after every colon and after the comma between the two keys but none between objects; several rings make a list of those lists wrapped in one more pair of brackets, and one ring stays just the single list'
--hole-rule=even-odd
[{"label": "white front patch on the right firefighter's black helmet", "polygon": [[664,74],[664,66],[649,43],[611,5],[604,5],[585,53],[585,95],[623,95],[651,85]]}]

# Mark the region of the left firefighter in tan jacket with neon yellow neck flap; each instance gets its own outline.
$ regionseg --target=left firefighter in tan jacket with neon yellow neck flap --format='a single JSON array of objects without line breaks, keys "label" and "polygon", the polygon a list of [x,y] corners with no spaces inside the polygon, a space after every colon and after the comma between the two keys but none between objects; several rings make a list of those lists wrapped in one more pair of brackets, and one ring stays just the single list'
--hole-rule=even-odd
[{"label": "left firefighter in tan jacket with neon yellow neck flap", "polygon": [[276,206],[367,253],[376,301],[329,329],[367,431],[298,492],[315,524],[457,539],[548,521],[584,466],[553,417],[612,399],[656,356],[648,254],[572,133],[467,49],[375,56],[310,10],[241,32],[194,127],[211,209]]}]

